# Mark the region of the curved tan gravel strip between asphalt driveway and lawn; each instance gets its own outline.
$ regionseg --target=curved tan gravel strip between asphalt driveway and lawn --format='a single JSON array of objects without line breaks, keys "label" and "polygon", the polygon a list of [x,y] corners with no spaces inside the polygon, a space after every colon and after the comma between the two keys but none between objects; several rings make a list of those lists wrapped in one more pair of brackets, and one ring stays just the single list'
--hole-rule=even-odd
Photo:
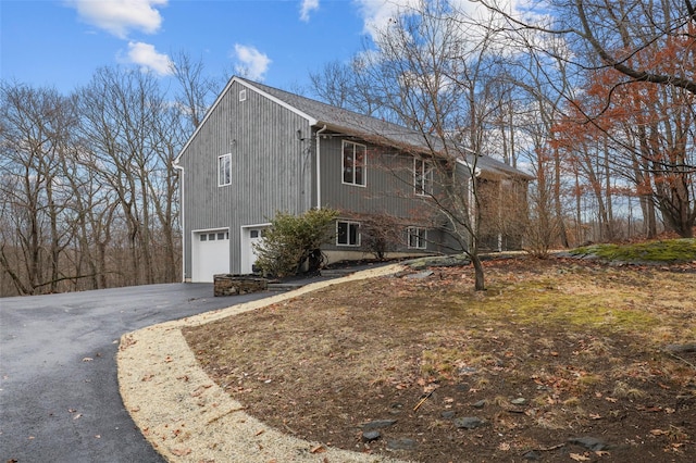
[{"label": "curved tan gravel strip between asphalt driveway and lawn", "polygon": [[248,415],[199,367],[182,328],[402,268],[398,264],[371,268],[126,334],[116,355],[123,403],[145,438],[170,462],[396,462],[297,439]]}]

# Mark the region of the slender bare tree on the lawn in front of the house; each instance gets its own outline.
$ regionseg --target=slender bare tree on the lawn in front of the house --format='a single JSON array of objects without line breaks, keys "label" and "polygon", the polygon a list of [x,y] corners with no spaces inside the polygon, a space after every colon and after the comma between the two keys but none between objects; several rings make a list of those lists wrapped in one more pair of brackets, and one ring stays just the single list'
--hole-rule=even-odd
[{"label": "slender bare tree on the lawn in front of the house", "polygon": [[[437,184],[421,197],[471,259],[475,288],[485,289],[480,256],[483,204],[478,159],[492,143],[499,99],[494,36],[446,1],[423,1],[393,18],[374,39],[365,67],[381,101],[420,134],[421,177]],[[406,151],[408,147],[403,147]]]}]

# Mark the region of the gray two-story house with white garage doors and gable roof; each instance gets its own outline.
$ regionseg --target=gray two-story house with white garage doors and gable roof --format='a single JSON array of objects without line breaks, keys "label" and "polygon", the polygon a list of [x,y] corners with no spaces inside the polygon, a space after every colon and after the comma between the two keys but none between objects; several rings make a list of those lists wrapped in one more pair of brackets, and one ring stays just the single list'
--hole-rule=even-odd
[{"label": "gray two-story house with white garage doors and gable roof", "polygon": [[[391,255],[451,252],[446,230],[426,220],[424,199],[436,186],[418,154],[423,145],[405,127],[233,77],[174,160],[184,279],[251,273],[252,245],[278,211],[340,211],[335,242],[324,249],[330,262],[365,255],[365,220],[398,226]],[[530,179],[486,157],[478,168]]]}]

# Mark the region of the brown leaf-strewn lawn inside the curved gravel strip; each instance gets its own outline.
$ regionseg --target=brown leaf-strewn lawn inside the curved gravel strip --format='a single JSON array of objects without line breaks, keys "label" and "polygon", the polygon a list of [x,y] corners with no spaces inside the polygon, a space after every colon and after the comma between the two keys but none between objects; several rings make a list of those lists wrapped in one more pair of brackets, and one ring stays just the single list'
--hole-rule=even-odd
[{"label": "brown leaf-strewn lawn inside the curved gravel strip", "polygon": [[[639,461],[636,453],[657,454],[672,442],[693,440],[693,436],[671,439],[661,429],[664,434],[646,438],[650,429],[668,429],[667,418],[685,416],[683,410],[667,405],[675,406],[674,391],[683,391],[689,378],[682,374],[681,380],[674,380],[683,365],[670,367],[671,360],[650,343],[657,336],[679,338],[675,329],[683,329],[683,313],[673,325],[659,325],[654,334],[627,328],[614,333],[614,326],[633,324],[634,313],[639,326],[642,317],[654,311],[655,293],[644,298],[647,290],[642,285],[624,281],[636,278],[633,272],[612,270],[613,299],[606,301],[605,272],[571,262],[577,268],[563,273],[547,262],[520,265],[520,272],[511,267],[512,286],[492,266],[487,268],[492,289],[480,295],[481,300],[459,284],[469,278],[461,268],[437,270],[437,289],[395,278],[337,285],[335,291],[322,290],[320,296],[278,306],[282,318],[269,311],[248,313],[227,324],[187,328],[185,336],[201,363],[213,365],[207,371],[210,377],[245,403],[251,415],[263,416],[289,434],[339,448],[355,448],[350,425],[357,420],[395,410],[395,404],[397,412],[402,410],[399,431],[425,435],[422,447],[409,451],[408,458],[415,461],[457,454],[447,453],[446,439],[452,431],[444,411],[490,417],[494,426],[480,435],[464,435],[480,443],[476,451],[483,452],[482,461],[509,459],[510,451],[533,448],[538,453],[568,446],[542,447],[564,440],[568,429],[596,433],[612,442],[643,443],[617,450],[616,456],[594,448],[569,448],[551,460]],[[563,275],[570,279],[564,281]],[[619,287],[625,288],[621,297],[616,295]],[[568,298],[569,293],[574,297]],[[671,323],[668,314],[658,315],[655,326]],[[424,352],[436,355],[422,362]],[[261,387],[259,381],[271,377],[273,381]],[[422,392],[435,377],[438,391],[423,400]],[[626,391],[639,388],[644,395],[623,393],[616,387],[619,381],[626,384]],[[191,383],[187,392],[202,393]],[[521,392],[529,404],[512,413],[524,414],[502,413],[510,398]],[[485,406],[471,410],[484,400]],[[643,413],[636,412],[641,403]],[[655,405],[662,406],[661,413],[645,413],[658,412],[650,410]],[[414,406],[418,413],[410,413]],[[411,422],[407,414],[413,415]],[[386,440],[371,445],[370,451],[380,453]],[[686,447],[691,450],[692,445]],[[574,452],[571,459],[569,451]]]}]

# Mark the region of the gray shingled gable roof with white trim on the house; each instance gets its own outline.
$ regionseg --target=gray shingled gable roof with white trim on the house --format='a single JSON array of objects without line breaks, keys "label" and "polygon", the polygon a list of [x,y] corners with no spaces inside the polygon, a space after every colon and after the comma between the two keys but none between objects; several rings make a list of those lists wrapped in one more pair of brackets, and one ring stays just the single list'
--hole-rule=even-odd
[{"label": "gray shingled gable roof with white trim on the house", "polygon": [[[386,146],[393,146],[395,148],[409,147],[415,151],[431,153],[433,147],[442,147],[442,142],[436,139],[427,139],[422,133],[409,129],[407,127],[394,124],[387,121],[383,121],[377,117],[356,113],[343,108],[334,107],[323,103],[311,98],[302,97],[297,93],[281,90],[278,88],[270,87],[264,84],[248,80],[241,77],[233,77],[229,79],[224,90],[220,93],[213,105],[210,108],[206,117],[196,128],[191,137],[188,139],[181,153],[176,157],[175,163],[182,157],[190,141],[196,136],[200,126],[202,126],[208,120],[209,115],[213,112],[214,108],[220,103],[221,99],[227,93],[233,84],[238,83],[247,88],[250,88],[260,95],[275,101],[282,107],[295,112],[296,114],[304,117],[311,126],[323,127],[327,129],[349,136],[360,137],[366,140],[373,140]],[[462,164],[473,165],[475,163],[477,170],[492,172],[501,176],[518,176],[526,179],[533,179],[534,177],[519,171],[504,162],[493,159],[487,155],[478,155],[477,159],[474,154],[468,154],[467,161]]]}]

